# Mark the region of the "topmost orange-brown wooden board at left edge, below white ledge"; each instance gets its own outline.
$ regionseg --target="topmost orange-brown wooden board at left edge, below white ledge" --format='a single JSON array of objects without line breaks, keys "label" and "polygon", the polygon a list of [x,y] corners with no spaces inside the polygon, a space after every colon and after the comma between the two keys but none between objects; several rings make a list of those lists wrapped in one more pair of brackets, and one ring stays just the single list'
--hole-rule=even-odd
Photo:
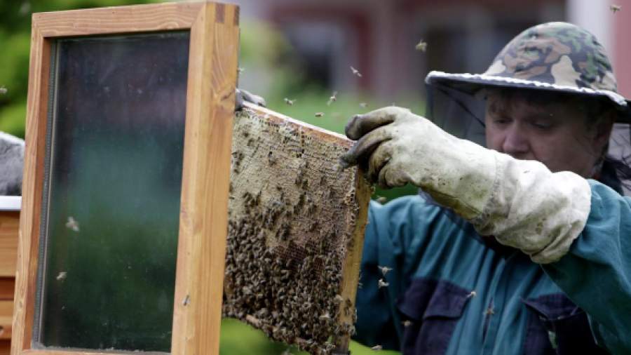
[{"label": "topmost orange-brown wooden board at left edge, below white ledge", "polygon": [[0,211],[0,277],[15,277],[20,212]]}]

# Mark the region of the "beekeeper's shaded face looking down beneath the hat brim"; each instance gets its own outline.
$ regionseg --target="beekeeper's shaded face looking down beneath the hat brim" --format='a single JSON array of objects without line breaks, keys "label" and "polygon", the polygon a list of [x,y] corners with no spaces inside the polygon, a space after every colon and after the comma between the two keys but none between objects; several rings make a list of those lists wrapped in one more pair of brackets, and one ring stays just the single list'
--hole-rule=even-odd
[{"label": "beekeeper's shaded face looking down beneath the hat brim", "polygon": [[484,121],[489,149],[585,178],[592,177],[609,139],[606,128],[588,126],[576,102],[533,104],[520,95],[491,93]]}]

